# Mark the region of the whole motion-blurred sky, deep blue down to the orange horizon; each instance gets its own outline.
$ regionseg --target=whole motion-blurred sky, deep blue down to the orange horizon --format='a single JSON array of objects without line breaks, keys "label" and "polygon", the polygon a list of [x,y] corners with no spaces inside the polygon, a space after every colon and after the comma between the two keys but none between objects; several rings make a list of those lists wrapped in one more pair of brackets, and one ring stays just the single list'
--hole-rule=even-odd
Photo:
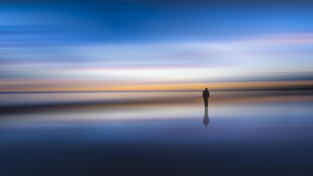
[{"label": "whole motion-blurred sky, deep blue down to the orange horizon", "polygon": [[0,91],[312,80],[311,9],[310,0],[1,0]]}]

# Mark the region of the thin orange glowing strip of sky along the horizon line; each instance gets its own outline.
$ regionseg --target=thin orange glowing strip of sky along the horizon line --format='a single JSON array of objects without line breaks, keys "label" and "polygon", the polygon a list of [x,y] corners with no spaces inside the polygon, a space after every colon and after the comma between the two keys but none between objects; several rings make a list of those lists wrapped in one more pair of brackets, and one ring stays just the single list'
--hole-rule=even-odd
[{"label": "thin orange glowing strip of sky along the horizon line", "polygon": [[214,90],[231,89],[266,89],[312,86],[313,80],[295,81],[240,81],[240,82],[207,82],[207,83],[155,83],[155,84],[107,84],[90,81],[87,84],[77,82],[0,82],[0,92],[32,92],[32,91],[166,91],[166,90],[202,90],[204,87]]}]

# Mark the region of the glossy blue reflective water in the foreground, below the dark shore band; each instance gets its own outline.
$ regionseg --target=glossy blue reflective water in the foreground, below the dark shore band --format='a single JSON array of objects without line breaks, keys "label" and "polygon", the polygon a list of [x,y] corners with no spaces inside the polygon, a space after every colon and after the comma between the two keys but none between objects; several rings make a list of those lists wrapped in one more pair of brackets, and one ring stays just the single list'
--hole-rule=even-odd
[{"label": "glossy blue reflective water in the foreground, below the dark shore band", "polygon": [[313,103],[201,103],[2,115],[0,175],[313,175]]}]

